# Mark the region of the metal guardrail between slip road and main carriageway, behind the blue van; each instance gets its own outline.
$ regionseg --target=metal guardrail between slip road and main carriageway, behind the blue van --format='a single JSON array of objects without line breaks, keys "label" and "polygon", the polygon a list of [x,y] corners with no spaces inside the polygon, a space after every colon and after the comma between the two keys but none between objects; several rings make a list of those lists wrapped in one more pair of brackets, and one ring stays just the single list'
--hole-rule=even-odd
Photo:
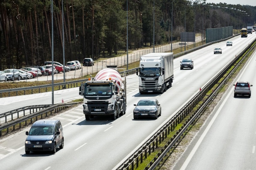
[{"label": "metal guardrail between slip road and main carriageway, behind the blue van", "polygon": [[[78,104],[79,102],[73,102],[73,103],[60,103],[60,104],[54,104],[54,105],[45,105],[49,106],[47,108],[44,108],[42,110],[39,110],[37,112],[34,112],[34,109],[39,108],[40,106],[31,106],[31,107],[25,107],[25,108],[20,108],[17,109],[16,111],[7,113],[6,115],[2,114],[1,117],[8,116],[8,115],[13,115],[14,113],[19,113],[21,110],[30,110],[30,114],[27,116],[23,116],[17,120],[14,120],[12,122],[6,123],[5,125],[0,126],[0,136],[2,136],[2,131],[6,129],[6,133],[9,133],[9,128],[13,127],[13,131],[15,130],[15,125],[19,124],[19,128],[22,127],[21,123],[25,122],[25,125],[27,125],[27,121],[30,119],[30,123],[33,122],[33,118],[36,118],[35,121],[38,120],[38,116],[41,116],[40,119],[43,118],[43,114],[45,114],[45,117],[48,116],[48,113],[50,112],[50,115],[54,113],[63,110],[67,107],[73,106],[74,104]],[[42,107],[42,106],[41,106]],[[31,113],[31,110],[33,110],[33,113]]]}]

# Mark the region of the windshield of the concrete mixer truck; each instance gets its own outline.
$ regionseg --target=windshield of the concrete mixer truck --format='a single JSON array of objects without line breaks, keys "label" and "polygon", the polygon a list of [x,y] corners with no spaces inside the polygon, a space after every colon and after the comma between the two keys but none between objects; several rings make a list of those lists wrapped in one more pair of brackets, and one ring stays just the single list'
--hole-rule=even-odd
[{"label": "windshield of the concrete mixer truck", "polygon": [[111,84],[87,84],[84,88],[84,92],[87,96],[110,95],[112,94],[112,86]]}]

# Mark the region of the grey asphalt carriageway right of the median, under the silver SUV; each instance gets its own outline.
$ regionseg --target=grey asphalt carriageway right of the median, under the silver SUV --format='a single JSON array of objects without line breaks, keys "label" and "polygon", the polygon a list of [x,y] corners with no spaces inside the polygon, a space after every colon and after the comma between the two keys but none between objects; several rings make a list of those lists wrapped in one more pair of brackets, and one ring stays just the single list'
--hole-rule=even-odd
[{"label": "grey asphalt carriageway right of the median, under the silver SUV", "polygon": [[214,109],[200,132],[176,163],[174,169],[254,169],[256,98],[234,97],[236,81],[254,81],[255,52],[241,74],[230,85],[227,94]]}]

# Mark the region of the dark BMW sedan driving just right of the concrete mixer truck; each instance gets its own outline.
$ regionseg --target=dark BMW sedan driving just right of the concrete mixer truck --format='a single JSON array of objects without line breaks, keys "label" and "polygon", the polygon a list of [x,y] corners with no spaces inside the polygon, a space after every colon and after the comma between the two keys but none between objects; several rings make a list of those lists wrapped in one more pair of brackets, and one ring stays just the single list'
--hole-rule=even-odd
[{"label": "dark BMW sedan driving just right of the concrete mixer truck", "polygon": [[158,118],[161,116],[161,106],[157,99],[154,98],[143,98],[140,99],[133,110],[133,118],[137,119],[139,117],[154,117]]}]

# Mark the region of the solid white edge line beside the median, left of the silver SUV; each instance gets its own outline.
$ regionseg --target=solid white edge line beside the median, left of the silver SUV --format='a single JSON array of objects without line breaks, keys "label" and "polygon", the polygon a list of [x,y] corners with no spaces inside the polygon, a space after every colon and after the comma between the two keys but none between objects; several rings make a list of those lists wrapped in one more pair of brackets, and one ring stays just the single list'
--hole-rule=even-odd
[{"label": "solid white edge line beside the median, left of the silver SUV", "polygon": [[[253,58],[253,57],[252,57]],[[252,58],[249,60],[248,63],[251,62]],[[245,68],[243,69],[243,71],[240,73],[240,76],[237,78],[237,80],[239,80],[242,75],[244,74],[246,68],[248,67],[248,64],[245,65]],[[219,113],[221,112],[222,108],[224,107],[225,103],[227,102],[227,99],[229,98],[229,96],[231,95],[231,93],[233,93],[233,89],[230,90],[230,92],[227,94],[226,98],[224,99],[224,101],[221,103],[220,107],[218,108],[218,110],[216,111],[215,115],[213,116],[212,120],[209,122],[209,125],[206,127],[206,129],[204,130],[203,134],[200,136],[200,138],[198,139],[196,145],[194,146],[194,148],[192,149],[192,151],[190,152],[190,154],[188,155],[187,159],[185,160],[185,162],[183,163],[183,165],[181,166],[180,170],[185,170],[187,168],[188,163],[190,162],[190,160],[192,159],[192,157],[194,156],[194,154],[196,153],[197,149],[199,148],[199,145],[201,144],[201,142],[203,141],[204,137],[206,136],[206,134],[208,133],[209,129],[211,128],[212,124],[214,123],[215,119],[217,118],[217,116],[219,115]]]}]

